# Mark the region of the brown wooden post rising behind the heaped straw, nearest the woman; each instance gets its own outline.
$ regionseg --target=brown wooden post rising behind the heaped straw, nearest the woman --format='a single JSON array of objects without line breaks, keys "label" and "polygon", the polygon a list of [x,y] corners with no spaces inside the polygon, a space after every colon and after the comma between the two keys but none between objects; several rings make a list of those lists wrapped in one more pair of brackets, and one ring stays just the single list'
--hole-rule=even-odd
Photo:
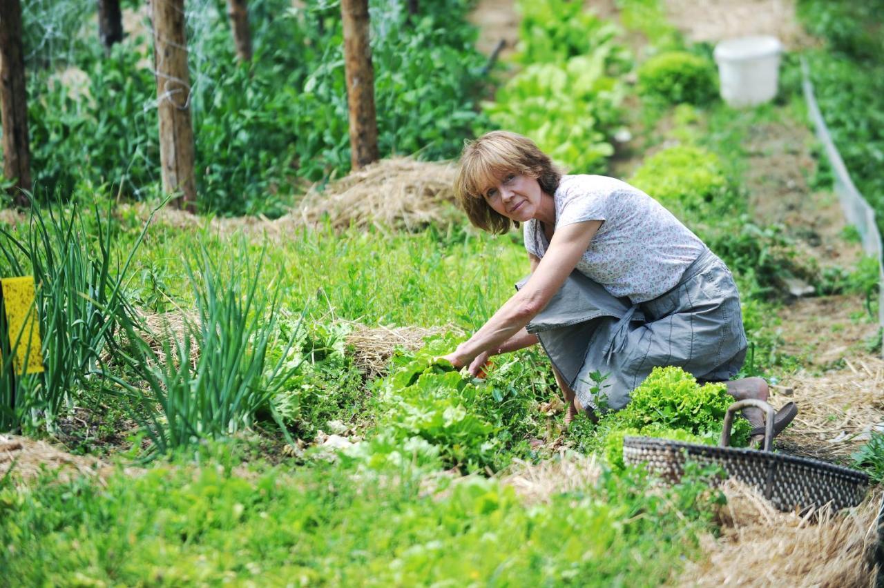
[{"label": "brown wooden post rising behind the heaped straw, nearest the woman", "polygon": [[341,0],[344,24],[344,70],[347,74],[347,105],[350,109],[350,161],[358,170],[376,162],[377,116],[375,70],[369,45],[368,0]]}]

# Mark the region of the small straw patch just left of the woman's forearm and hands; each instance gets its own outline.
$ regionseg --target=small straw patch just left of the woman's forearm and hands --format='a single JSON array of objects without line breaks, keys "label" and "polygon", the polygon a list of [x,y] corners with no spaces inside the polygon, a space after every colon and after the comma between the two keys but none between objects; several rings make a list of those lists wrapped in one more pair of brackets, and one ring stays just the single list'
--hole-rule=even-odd
[{"label": "small straw patch just left of the woman's forearm and hands", "polygon": [[360,323],[351,324],[353,331],[345,338],[347,349],[352,350],[354,364],[367,380],[386,372],[386,363],[397,349],[417,351],[430,335],[451,331],[462,334],[456,327],[367,327]]}]

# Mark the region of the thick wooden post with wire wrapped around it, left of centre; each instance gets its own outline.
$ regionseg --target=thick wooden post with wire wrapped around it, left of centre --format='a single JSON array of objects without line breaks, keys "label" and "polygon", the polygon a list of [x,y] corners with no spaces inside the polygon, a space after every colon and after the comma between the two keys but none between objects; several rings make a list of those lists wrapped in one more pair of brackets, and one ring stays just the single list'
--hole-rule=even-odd
[{"label": "thick wooden post with wire wrapped around it, left of centre", "polygon": [[184,0],[151,0],[150,12],[154,24],[163,190],[166,193],[180,192],[182,198],[175,200],[177,205],[193,209],[196,202],[194,126],[190,118]]}]

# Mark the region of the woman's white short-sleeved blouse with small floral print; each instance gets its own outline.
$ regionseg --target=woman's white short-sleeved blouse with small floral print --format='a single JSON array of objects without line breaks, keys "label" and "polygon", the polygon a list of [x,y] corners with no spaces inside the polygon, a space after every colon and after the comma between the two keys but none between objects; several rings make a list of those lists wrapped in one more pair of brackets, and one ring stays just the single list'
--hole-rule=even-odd
[{"label": "woman's white short-sleeved blouse with small floral print", "polygon": [[[603,221],[576,269],[633,304],[671,290],[704,243],[657,200],[613,177],[563,176],[555,226]],[[549,243],[537,219],[525,222],[525,249],[542,258]]]}]

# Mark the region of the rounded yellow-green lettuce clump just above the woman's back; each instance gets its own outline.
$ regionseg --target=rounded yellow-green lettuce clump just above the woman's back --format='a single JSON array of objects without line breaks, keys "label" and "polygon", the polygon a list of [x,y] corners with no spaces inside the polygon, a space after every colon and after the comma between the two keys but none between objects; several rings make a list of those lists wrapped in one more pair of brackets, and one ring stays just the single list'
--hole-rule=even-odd
[{"label": "rounded yellow-green lettuce clump just above the woman's back", "polygon": [[629,183],[678,215],[711,216],[734,205],[719,157],[702,147],[667,147],[647,158]]}]

